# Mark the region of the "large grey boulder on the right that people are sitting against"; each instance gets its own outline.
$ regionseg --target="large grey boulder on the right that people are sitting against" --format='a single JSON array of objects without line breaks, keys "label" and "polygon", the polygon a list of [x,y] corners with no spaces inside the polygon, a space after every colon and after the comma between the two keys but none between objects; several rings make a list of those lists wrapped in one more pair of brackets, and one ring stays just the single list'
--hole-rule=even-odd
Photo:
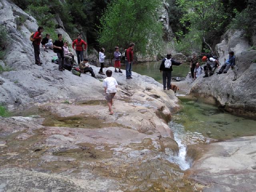
[{"label": "large grey boulder on the right that people are sitting against", "polygon": [[[214,98],[229,112],[256,117],[256,50],[249,50],[248,40],[242,31],[228,31],[222,42],[216,45],[220,63],[228,59],[228,52],[233,50],[238,66],[238,78],[232,81],[232,69],[227,74],[216,73],[208,78],[200,76],[190,89],[190,93],[211,100]],[[215,70],[217,72],[217,70]]]}]

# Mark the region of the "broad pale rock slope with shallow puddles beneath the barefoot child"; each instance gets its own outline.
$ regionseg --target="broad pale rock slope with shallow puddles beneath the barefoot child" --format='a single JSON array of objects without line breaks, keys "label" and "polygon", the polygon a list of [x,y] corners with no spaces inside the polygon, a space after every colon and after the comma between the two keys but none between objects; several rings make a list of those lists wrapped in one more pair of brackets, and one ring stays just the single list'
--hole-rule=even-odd
[{"label": "broad pale rock slope with shallow puddles beneath the barefoot child", "polygon": [[[170,160],[178,153],[167,125],[179,107],[172,91],[148,76],[126,80],[114,73],[119,86],[110,116],[105,76],[60,72],[51,50],[41,50],[43,64],[35,65],[29,36],[36,20],[6,0],[0,7],[10,37],[0,64],[14,69],[0,74],[0,103],[13,110],[12,117],[0,117],[0,191],[184,187],[184,172]],[[61,28],[56,32],[70,40]]]}]

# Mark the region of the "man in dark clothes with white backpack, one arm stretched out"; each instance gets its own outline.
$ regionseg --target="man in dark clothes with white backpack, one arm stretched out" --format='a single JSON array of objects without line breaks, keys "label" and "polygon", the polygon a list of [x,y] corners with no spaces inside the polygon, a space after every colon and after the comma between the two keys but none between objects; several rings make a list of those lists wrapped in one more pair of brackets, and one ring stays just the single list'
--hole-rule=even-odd
[{"label": "man in dark clothes with white backpack, one arm stretched out", "polygon": [[172,78],[172,65],[180,65],[181,62],[177,62],[171,59],[172,55],[170,53],[167,54],[166,58],[162,60],[160,65],[160,72],[163,72],[163,84],[164,90],[166,89],[166,78],[167,78],[167,89],[170,90],[171,88],[171,78]]}]

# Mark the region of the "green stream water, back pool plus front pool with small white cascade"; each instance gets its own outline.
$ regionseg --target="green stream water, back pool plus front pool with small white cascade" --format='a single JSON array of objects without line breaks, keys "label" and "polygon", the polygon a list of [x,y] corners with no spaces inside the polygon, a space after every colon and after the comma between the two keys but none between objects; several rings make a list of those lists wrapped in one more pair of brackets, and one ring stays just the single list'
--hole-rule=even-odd
[{"label": "green stream water, back pool plus front pool with small white cascade", "polygon": [[[134,64],[133,71],[162,83],[160,64],[160,61]],[[189,64],[186,63],[173,66],[172,76],[186,77],[189,71]],[[168,125],[180,149],[179,155],[170,157],[169,161],[178,164],[181,170],[187,170],[191,166],[192,161],[186,161],[188,145],[256,135],[255,120],[231,115],[216,106],[179,92],[176,96],[180,99],[179,104],[182,108],[173,114]]]}]

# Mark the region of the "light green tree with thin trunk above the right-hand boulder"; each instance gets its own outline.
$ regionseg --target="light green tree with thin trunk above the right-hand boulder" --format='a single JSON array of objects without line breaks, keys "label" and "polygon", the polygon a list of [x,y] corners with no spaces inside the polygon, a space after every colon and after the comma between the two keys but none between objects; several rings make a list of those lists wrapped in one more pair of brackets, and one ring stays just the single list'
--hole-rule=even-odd
[{"label": "light green tree with thin trunk above the right-hand boulder", "polygon": [[177,3],[183,9],[189,10],[180,22],[188,31],[196,29],[201,34],[198,38],[202,40],[202,52],[207,49],[213,52],[211,41],[222,31],[227,18],[221,0],[177,0]]}]

